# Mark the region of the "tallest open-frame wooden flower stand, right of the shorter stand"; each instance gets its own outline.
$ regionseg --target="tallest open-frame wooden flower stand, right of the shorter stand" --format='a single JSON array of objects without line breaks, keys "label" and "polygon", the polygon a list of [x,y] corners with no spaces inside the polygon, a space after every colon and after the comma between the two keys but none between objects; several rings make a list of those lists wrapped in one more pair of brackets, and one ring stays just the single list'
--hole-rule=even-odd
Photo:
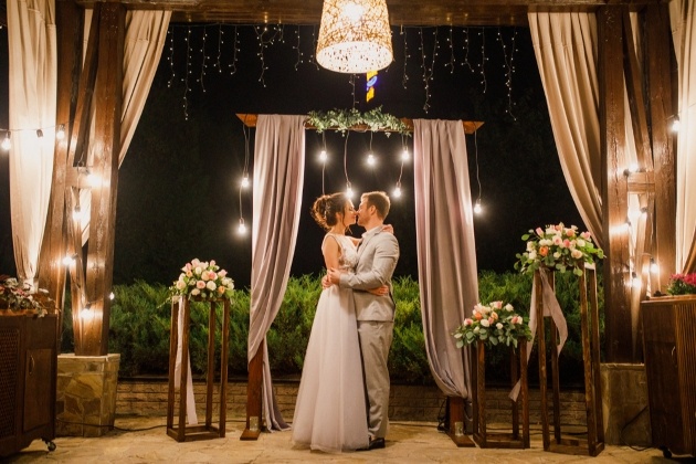
[{"label": "tallest open-frame wooden flower stand, right of the shorter stand", "polygon": [[[584,371],[584,402],[587,411],[588,437],[577,439],[561,435],[560,426],[560,388],[558,380],[558,337],[556,324],[551,317],[544,317],[544,289],[539,271],[534,273],[536,288],[537,344],[539,346],[539,390],[541,396],[541,435],[544,451],[563,454],[589,454],[597,456],[604,450],[604,424],[602,418],[602,386],[600,379],[599,354],[599,310],[597,302],[597,271],[594,265],[584,265],[578,276],[580,291],[580,318],[582,325],[582,363]],[[549,273],[549,283],[553,286],[553,273]],[[590,317],[588,320],[588,300]],[[549,319],[551,345],[551,381],[553,398],[553,441],[551,442],[547,401],[546,371],[546,331],[545,319]]]}]

